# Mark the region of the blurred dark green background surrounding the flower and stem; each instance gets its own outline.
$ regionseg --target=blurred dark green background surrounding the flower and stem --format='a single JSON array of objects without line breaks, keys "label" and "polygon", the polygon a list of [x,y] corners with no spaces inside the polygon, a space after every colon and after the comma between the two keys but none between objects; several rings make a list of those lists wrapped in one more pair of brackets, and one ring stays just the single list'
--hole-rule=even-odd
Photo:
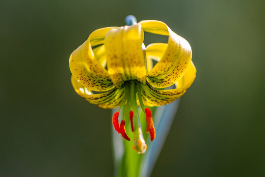
[{"label": "blurred dark green background surrounding the flower and stem", "polygon": [[129,14],[185,37],[198,71],[152,177],[264,177],[264,0],[2,0],[0,177],[112,176],[111,111],[75,93],[68,59]]}]

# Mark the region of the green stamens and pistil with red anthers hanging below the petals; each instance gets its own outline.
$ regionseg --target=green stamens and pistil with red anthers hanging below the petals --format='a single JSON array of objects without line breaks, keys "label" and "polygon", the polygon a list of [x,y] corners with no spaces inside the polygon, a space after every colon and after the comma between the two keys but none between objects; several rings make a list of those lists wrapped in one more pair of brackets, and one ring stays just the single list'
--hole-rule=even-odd
[{"label": "green stamens and pistil with red anthers hanging below the petals", "polygon": [[130,120],[131,129],[133,132],[133,141],[134,141],[132,148],[135,149],[137,153],[144,153],[147,149],[147,145],[143,138],[138,106],[137,106],[137,98],[142,108],[142,111],[146,115],[146,122],[147,122],[146,132],[150,133],[151,141],[153,141],[155,139],[155,128],[154,128],[152,113],[151,110],[149,108],[145,108],[143,104],[141,97],[141,83],[139,83],[136,80],[127,81],[125,84],[125,96],[119,108],[119,111],[122,109],[122,116],[121,116],[122,120],[120,125],[118,120],[119,112],[114,113],[112,117],[112,123],[115,130],[118,133],[121,133],[124,139],[131,141],[131,139],[127,136],[125,128],[126,121],[128,120],[127,122],[129,122]]}]

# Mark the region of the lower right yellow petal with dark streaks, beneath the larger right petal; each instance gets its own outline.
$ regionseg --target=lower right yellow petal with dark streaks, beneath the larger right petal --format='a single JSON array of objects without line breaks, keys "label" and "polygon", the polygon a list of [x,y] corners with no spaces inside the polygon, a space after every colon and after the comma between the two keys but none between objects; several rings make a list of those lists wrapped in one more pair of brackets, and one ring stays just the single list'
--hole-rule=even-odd
[{"label": "lower right yellow petal with dark streaks, beneath the larger right petal", "polygon": [[189,62],[185,75],[175,83],[177,89],[155,89],[150,84],[141,86],[141,96],[146,106],[162,106],[180,98],[191,86],[196,77],[196,68],[192,61]]}]

